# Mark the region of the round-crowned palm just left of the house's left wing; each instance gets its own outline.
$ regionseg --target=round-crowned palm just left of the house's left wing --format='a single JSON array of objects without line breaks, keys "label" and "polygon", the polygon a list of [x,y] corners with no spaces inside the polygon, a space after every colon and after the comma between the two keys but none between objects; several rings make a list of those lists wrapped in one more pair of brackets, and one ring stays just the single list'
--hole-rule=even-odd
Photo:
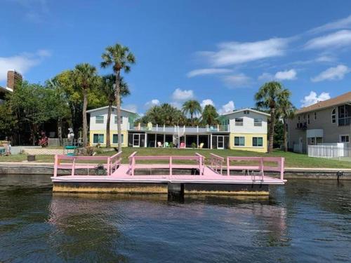
[{"label": "round-crowned palm just left of the house's left wing", "polygon": [[97,81],[96,68],[88,63],[82,63],[74,67],[74,79],[81,87],[83,93],[83,144],[86,146],[87,140],[87,121],[86,107],[88,107],[88,91],[95,85]]}]

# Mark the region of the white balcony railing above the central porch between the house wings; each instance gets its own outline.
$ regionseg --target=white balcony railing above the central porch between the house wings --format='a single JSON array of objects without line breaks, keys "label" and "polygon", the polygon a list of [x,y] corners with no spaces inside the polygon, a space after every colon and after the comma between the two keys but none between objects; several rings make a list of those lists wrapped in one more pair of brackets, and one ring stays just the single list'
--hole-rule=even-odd
[{"label": "white balcony railing above the central porch between the house wings", "polygon": [[206,133],[206,132],[229,132],[228,125],[213,125],[213,126],[151,126],[142,125],[139,123],[132,126],[130,130],[153,131],[162,133]]}]

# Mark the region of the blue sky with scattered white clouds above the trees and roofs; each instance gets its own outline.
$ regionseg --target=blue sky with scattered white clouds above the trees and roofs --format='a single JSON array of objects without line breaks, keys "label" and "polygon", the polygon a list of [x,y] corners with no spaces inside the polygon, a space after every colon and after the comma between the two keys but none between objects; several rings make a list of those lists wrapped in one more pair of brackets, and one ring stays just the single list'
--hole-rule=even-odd
[{"label": "blue sky with scattered white clouds above the trees and roofs", "polygon": [[106,74],[101,53],[119,42],[137,58],[124,107],[139,113],[253,107],[272,79],[296,107],[351,90],[351,1],[3,0],[0,22],[1,86],[13,68],[35,83],[80,62]]}]

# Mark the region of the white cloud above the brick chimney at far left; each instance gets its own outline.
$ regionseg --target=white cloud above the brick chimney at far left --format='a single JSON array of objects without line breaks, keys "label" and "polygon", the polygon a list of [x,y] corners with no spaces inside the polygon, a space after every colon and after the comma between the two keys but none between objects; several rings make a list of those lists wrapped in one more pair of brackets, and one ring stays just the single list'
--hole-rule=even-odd
[{"label": "white cloud above the brick chimney at far left", "polygon": [[0,81],[6,80],[8,69],[15,69],[25,74],[32,67],[40,64],[50,56],[48,50],[38,50],[37,53],[22,53],[11,57],[0,57]]}]

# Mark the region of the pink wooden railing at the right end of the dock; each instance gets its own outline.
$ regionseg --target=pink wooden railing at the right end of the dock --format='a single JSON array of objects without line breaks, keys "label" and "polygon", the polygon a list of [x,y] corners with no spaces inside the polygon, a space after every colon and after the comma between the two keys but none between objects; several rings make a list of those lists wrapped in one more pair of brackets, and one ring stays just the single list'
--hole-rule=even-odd
[{"label": "pink wooden railing at the right end of the dock", "polygon": [[[258,165],[244,165],[244,166],[231,166],[231,161],[256,161]],[[230,175],[230,170],[248,170],[260,173],[260,177],[263,180],[263,177],[266,172],[279,172],[280,179],[284,180],[284,157],[227,157],[227,175]],[[265,166],[265,162],[277,163],[277,166]],[[253,174],[254,175],[254,174]]]}]

